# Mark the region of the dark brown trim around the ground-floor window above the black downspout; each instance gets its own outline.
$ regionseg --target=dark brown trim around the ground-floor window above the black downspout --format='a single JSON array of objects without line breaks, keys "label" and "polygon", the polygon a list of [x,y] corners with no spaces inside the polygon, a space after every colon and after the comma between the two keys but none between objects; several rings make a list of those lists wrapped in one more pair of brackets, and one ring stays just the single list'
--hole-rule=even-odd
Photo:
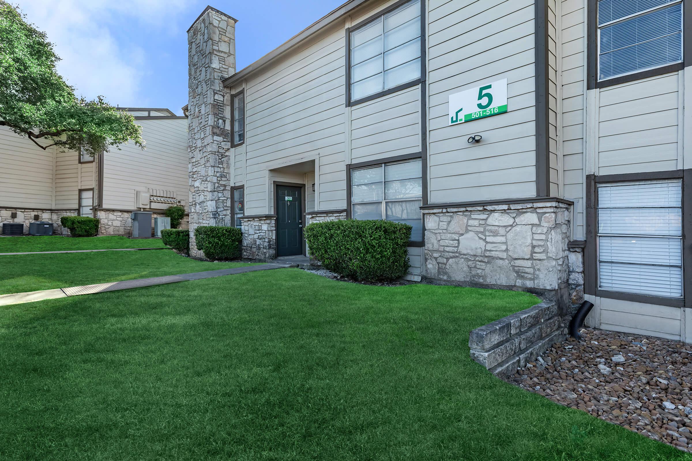
[{"label": "dark brown trim around the ground-floor window above the black downspout", "polygon": [[692,267],[692,248],[688,236],[692,236],[692,201],[685,200],[687,189],[692,188],[692,169],[671,171],[647,171],[644,173],[609,174],[586,176],[586,247],[584,252],[584,293],[606,299],[619,299],[635,303],[667,305],[673,308],[692,307],[692,280],[683,277],[683,298],[656,297],[647,294],[612,292],[598,288],[598,194],[597,185],[608,182],[643,181],[682,178],[682,270]]}]

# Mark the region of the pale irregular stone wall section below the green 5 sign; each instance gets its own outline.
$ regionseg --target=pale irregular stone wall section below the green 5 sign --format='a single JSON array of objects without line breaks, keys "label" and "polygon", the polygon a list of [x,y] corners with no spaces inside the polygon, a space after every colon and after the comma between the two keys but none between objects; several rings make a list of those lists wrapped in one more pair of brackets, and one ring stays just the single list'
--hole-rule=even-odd
[{"label": "pale irregular stone wall section below the green 5 sign", "polygon": [[423,212],[429,281],[527,290],[567,301],[570,205],[542,201]]}]

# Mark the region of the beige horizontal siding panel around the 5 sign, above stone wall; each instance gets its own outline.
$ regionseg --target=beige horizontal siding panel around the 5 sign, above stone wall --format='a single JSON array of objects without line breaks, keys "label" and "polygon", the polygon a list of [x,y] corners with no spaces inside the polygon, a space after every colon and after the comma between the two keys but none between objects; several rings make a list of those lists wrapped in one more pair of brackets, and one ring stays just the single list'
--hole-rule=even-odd
[{"label": "beige horizontal siding panel around the 5 sign, above stone wall", "polygon": [[[533,1],[432,1],[429,22],[430,203],[535,195]],[[508,113],[449,126],[451,93],[502,78]]]}]

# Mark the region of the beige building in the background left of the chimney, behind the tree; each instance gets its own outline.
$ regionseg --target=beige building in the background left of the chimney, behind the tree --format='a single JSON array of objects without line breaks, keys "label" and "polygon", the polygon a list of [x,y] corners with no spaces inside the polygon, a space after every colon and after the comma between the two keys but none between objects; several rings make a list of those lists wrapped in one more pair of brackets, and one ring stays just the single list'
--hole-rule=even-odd
[{"label": "beige building in the background left of the chimney, behind the tree", "polygon": [[0,222],[55,224],[61,216],[101,219],[100,234],[131,233],[131,211],[163,216],[188,201],[187,117],[168,109],[121,108],[142,126],[146,149],[133,143],[97,158],[45,151],[26,137],[0,129]]}]

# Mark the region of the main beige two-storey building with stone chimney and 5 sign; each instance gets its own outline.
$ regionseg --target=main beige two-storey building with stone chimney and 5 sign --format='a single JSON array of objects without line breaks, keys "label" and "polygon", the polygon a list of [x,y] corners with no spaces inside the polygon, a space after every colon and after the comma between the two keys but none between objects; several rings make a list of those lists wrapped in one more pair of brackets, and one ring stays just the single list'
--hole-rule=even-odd
[{"label": "main beige two-storey building with stone chimney and 5 sign", "polygon": [[412,281],[585,292],[592,326],[692,341],[688,3],[350,0],[237,72],[208,7],[191,225],[266,259],[316,220],[400,220]]}]

